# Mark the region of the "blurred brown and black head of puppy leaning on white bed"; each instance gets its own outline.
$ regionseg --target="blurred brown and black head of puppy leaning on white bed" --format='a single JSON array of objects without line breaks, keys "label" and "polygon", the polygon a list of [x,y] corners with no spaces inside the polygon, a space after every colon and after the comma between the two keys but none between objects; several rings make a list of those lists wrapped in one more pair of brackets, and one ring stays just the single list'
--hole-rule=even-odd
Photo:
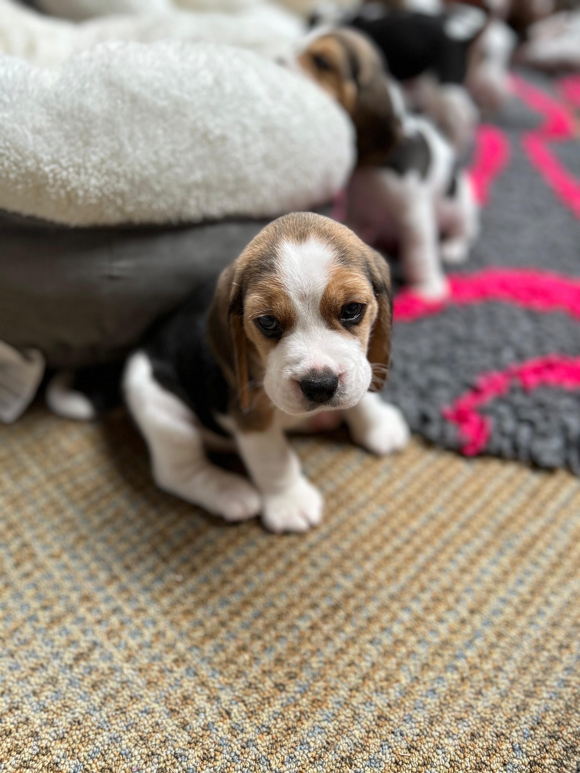
[{"label": "blurred brown and black head of puppy leaning on white bed", "polygon": [[374,43],[353,29],[335,29],[309,39],[299,64],[352,118],[359,164],[383,162],[397,141],[401,121]]}]

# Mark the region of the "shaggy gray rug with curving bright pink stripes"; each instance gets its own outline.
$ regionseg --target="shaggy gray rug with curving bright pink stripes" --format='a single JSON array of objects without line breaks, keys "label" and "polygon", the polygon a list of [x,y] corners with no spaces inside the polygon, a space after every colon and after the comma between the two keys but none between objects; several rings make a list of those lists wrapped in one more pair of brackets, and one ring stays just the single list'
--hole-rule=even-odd
[{"label": "shaggy gray rug with curving bright pink stripes", "polygon": [[580,77],[525,73],[476,143],[482,233],[451,298],[395,298],[385,390],[464,455],[580,474]]}]

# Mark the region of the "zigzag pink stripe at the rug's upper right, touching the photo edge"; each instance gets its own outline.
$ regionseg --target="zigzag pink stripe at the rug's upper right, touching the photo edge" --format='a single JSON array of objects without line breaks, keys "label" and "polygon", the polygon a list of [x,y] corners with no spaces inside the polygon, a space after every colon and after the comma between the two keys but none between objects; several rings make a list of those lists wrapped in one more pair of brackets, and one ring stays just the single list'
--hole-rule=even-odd
[{"label": "zigzag pink stripe at the rug's upper right, touching the photo edge", "polygon": [[513,91],[520,100],[544,117],[544,123],[539,128],[524,135],[524,152],[561,202],[571,209],[576,217],[580,217],[580,183],[561,165],[548,147],[552,141],[575,139],[574,116],[568,107],[523,78],[513,76],[512,82]]}]

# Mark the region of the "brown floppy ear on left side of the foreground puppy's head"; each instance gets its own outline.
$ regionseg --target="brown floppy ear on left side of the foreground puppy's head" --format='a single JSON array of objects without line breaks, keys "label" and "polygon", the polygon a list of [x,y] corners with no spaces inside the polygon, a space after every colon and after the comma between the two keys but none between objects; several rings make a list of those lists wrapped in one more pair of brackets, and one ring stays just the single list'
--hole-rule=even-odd
[{"label": "brown floppy ear on left side of the foreground puppy's head", "polygon": [[241,410],[250,407],[247,337],[244,332],[244,295],[236,279],[236,264],[220,274],[209,315],[210,346],[222,373],[235,386]]}]

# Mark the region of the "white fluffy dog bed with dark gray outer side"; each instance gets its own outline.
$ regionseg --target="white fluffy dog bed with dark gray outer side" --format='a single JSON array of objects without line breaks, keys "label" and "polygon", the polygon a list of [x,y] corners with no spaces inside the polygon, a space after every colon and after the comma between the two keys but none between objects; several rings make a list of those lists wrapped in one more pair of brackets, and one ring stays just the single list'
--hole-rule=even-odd
[{"label": "white fluffy dog bed with dark gray outer side", "polygon": [[[118,359],[268,218],[345,184],[353,128],[333,100],[258,53],[192,42],[264,50],[302,29],[248,5],[75,26],[0,0],[0,341],[55,367]],[[118,37],[170,39],[94,45]]]}]

